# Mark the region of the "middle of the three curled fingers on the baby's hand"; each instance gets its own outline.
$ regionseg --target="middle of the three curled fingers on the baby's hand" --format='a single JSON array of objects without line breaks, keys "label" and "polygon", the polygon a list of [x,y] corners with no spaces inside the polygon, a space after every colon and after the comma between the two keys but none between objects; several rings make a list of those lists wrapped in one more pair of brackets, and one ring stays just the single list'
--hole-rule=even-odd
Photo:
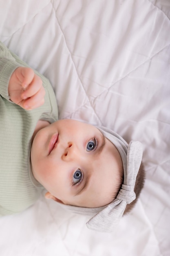
[{"label": "middle of the three curled fingers on the baby's hand", "polygon": [[42,87],[42,80],[40,76],[35,75],[29,86],[26,87],[26,90],[22,93],[22,99],[31,98],[35,95]]}]

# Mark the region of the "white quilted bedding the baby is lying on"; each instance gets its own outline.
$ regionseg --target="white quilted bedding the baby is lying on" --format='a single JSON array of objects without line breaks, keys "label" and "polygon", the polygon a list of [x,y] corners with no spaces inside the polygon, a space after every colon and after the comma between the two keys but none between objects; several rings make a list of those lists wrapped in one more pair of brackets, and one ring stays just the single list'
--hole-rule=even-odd
[{"label": "white quilted bedding the baby is lying on", "polygon": [[0,0],[0,40],[51,81],[60,118],[144,148],[146,183],[110,234],[43,195],[0,218],[0,256],[170,256],[170,0]]}]

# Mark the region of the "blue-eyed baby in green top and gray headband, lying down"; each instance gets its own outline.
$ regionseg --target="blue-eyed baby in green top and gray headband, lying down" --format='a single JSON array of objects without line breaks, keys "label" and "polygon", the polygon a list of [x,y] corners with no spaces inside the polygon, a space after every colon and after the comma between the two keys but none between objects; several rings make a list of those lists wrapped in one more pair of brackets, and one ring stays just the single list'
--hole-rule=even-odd
[{"label": "blue-eyed baby in green top and gray headband, lying down", "polygon": [[90,229],[112,231],[144,184],[141,144],[112,130],[58,120],[49,81],[0,43],[0,215],[38,199],[92,218]]}]

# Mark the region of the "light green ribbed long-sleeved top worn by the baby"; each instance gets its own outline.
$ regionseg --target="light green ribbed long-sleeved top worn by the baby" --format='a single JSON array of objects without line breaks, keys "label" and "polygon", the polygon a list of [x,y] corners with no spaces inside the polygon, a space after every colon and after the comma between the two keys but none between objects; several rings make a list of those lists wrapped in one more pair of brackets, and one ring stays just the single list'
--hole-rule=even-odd
[{"label": "light green ribbed long-sleeved top worn by the baby", "polygon": [[38,120],[58,119],[53,88],[36,71],[46,90],[44,105],[27,111],[9,100],[9,79],[19,66],[28,67],[0,43],[0,215],[23,211],[38,199],[43,187],[29,164],[31,138]]}]

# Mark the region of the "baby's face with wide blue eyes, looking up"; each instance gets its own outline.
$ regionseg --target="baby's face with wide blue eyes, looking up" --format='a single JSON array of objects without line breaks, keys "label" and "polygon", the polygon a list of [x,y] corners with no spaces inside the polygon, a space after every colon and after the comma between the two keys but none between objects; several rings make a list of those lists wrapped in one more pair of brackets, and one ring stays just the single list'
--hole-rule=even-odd
[{"label": "baby's face with wide blue eyes, looking up", "polygon": [[64,204],[101,207],[116,192],[121,157],[90,124],[59,120],[41,129],[31,146],[33,175]]}]

